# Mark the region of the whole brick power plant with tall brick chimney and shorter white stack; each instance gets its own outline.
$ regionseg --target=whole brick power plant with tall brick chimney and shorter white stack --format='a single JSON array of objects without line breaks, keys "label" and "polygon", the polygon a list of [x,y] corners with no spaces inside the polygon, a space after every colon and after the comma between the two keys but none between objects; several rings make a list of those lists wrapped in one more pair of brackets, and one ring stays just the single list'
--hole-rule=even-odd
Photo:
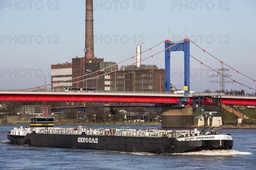
[{"label": "whole brick power plant with tall brick chimney and shorter white stack", "polygon": [[58,86],[52,90],[94,88],[99,92],[164,92],[165,70],[158,69],[156,65],[142,65],[141,49],[141,45],[136,46],[136,65],[124,65],[121,68],[116,62],[105,62],[103,58],[95,57],[93,3],[87,0],[84,57],[75,57],[71,63],[52,64],[51,84],[52,87]]}]

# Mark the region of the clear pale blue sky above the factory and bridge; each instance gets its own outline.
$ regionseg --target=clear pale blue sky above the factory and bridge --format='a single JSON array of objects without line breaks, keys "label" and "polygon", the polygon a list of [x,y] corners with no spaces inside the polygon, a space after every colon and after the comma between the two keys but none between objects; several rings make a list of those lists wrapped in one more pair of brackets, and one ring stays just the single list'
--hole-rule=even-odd
[{"label": "clear pale blue sky above the factory and bridge", "polygon": [[[186,26],[186,35],[191,40],[233,68],[256,79],[255,0],[93,2],[96,4],[93,11],[96,57],[121,62],[135,55],[135,45],[142,45],[145,50],[166,39],[183,39]],[[44,84],[44,75],[50,83],[51,64],[71,62],[72,58],[84,55],[84,0],[50,3],[48,0],[31,3],[0,0],[0,4],[0,88],[37,87]],[[204,54],[195,45],[191,44],[190,48],[191,55],[210,67],[221,67],[220,62]],[[163,49],[164,44],[143,54],[143,57]],[[171,56],[172,73],[175,73],[171,82],[182,88],[183,77],[176,72],[183,71],[183,52],[175,52]],[[129,60],[119,67],[133,62]],[[143,61],[143,64],[156,64],[164,68],[164,53]],[[209,83],[213,79],[205,76],[205,72],[202,78],[199,75],[200,69],[208,68],[192,58],[190,68],[197,71],[197,77],[191,78],[192,91],[218,89],[217,84]],[[233,79],[255,88],[252,80],[237,76],[235,71],[230,71],[230,74]],[[226,85],[226,88],[237,90],[237,85]],[[240,85],[238,88],[251,92]]]}]

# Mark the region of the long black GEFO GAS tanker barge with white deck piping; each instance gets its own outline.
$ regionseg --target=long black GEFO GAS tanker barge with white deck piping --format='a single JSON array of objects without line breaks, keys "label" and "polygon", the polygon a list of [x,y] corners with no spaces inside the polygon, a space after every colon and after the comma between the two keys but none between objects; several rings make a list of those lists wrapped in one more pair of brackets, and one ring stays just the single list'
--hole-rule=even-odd
[{"label": "long black GEFO GAS tanker barge with white deck piping", "polygon": [[[208,116],[207,116],[208,118]],[[201,150],[231,150],[230,133],[218,134],[202,130],[132,129],[130,127],[88,129],[53,127],[51,116],[31,117],[30,127],[14,127],[7,138],[14,144],[119,150],[149,153],[185,153]],[[207,121],[205,121],[207,122]]]}]

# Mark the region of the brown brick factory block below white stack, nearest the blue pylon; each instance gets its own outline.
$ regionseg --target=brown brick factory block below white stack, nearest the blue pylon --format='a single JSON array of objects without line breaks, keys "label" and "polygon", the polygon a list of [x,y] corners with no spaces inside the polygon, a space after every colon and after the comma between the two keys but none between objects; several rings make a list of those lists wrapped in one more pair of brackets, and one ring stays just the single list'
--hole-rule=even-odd
[{"label": "brown brick factory block below white stack, nearest the blue pylon", "polygon": [[164,71],[156,65],[121,67],[120,71],[111,74],[111,91],[163,92]]}]

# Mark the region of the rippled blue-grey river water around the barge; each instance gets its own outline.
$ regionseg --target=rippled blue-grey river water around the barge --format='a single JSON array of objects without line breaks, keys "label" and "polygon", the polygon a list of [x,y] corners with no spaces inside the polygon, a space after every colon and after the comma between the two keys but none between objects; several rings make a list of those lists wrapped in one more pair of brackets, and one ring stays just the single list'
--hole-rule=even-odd
[{"label": "rippled blue-grey river water around the barge", "polygon": [[[216,129],[219,133],[231,133],[234,142],[233,150],[155,155],[15,145],[6,138],[12,127],[19,126],[0,126],[0,170],[256,170],[256,129]],[[87,127],[110,128],[107,125]],[[111,127],[120,128],[121,126]],[[146,127],[133,126],[132,128],[145,129]],[[157,126],[157,129],[161,127]]]}]

